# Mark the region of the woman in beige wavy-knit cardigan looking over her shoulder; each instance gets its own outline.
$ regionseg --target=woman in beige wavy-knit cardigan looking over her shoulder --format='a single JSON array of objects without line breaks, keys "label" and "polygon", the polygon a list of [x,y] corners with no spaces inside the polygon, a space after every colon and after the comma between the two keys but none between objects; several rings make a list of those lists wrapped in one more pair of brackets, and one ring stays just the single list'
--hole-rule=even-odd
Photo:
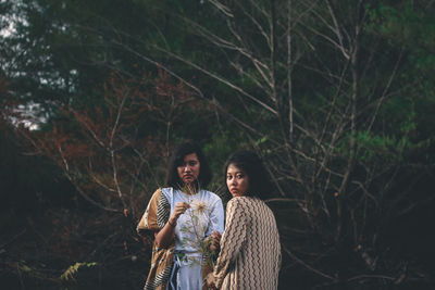
[{"label": "woman in beige wavy-knit cardigan looking over her shoulder", "polygon": [[212,289],[275,290],[281,244],[275,217],[262,201],[272,190],[268,173],[249,151],[231,155],[225,173],[233,198],[226,206],[221,252],[207,283]]}]

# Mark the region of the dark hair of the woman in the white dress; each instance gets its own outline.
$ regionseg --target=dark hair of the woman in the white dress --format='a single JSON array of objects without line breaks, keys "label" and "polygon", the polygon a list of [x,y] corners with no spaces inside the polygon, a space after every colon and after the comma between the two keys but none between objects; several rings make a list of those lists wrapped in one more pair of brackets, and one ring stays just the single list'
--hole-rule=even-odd
[{"label": "dark hair of the woman in the white dress", "polygon": [[166,169],[166,185],[181,189],[184,186],[183,180],[178,176],[177,167],[184,163],[184,157],[188,154],[196,153],[199,160],[200,168],[198,182],[200,187],[206,187],[211,180],[211,169],[201,148],[194,141],[185,141],[178,144],[172,156]]}]

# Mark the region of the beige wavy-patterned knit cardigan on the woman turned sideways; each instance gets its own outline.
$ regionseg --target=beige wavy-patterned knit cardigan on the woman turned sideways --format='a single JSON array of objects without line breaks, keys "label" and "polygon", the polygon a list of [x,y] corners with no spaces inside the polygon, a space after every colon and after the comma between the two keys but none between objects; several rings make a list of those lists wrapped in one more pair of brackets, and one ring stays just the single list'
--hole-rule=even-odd
[{"label": "beige wavy-patterned knit cardigan on the woman turned sideways", "polygon": [[229,200],[213,272],[216,288],[276,290],[279,267],[279,235],[273,212],[257,198]]}]

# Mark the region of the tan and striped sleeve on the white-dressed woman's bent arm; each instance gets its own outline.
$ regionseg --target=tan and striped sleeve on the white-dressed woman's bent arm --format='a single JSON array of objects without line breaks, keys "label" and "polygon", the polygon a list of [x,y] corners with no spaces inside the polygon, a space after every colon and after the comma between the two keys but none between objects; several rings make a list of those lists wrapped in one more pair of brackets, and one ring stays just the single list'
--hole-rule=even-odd
[{"label": "tan and striped sleeve on the white-dressed woman's bent arm", "polygon": [[148,203],[147,210],[136,227],[137,232],[159,231],[170,218],[171,205],[160,189],[156,190]]}]

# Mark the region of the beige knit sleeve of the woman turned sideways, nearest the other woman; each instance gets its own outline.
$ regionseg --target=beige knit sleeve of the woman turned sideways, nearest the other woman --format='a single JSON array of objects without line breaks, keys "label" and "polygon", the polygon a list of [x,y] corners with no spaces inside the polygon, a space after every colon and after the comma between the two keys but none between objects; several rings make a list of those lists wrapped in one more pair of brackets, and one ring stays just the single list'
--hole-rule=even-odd
[{"label": "beige knit sleeve of the woman turned sideways, nearest the other woman", "polygon": [[214,281],[217,289],[222,287],[229,267],[238,257],[246,240],[247,218],[244,204],[233,198],[226,206],[225,230],[221,239],[221,253],[214,266]]}]

